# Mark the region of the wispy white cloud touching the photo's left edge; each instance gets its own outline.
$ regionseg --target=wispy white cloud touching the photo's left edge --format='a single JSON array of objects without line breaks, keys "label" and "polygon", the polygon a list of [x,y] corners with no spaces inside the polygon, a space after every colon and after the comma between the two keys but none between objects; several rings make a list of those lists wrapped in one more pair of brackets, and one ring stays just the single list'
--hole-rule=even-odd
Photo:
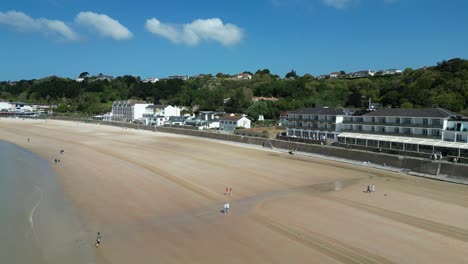
[{"label": "wispy white cloud touching the photo's left edge", "polygon": [[32,18],[23,12],[0,12],[0,24],[4,24],[21,32],[41,32],[58,34],[67,40],[77,40],[78,35],[64,22],[46,18]]}]

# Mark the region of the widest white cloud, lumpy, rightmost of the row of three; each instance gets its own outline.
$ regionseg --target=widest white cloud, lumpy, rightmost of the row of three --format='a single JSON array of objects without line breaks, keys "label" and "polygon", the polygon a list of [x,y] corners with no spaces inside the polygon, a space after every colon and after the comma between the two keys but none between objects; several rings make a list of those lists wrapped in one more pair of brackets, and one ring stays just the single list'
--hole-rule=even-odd
[{"label": "widest white cloud, lumpy, rightmost of the row of three", "polygon": [[233,24],[224,24],[219,18],[197,19],[184,25],[161,23],[156,18],[146,20],[149,32],[169,39],[174,43],[197,45],[202,40],[218,41],[224,46],[232,46],[243,38],[243,30]]}]

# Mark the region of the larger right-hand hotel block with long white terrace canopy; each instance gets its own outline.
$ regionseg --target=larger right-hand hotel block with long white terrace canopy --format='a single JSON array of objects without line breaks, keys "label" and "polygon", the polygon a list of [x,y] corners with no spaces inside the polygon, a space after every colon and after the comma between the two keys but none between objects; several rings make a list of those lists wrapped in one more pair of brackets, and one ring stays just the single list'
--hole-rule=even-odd
[{"label": "larger right-hand hotel block with long white terrace canopy", "polygon": [[468,118],[446,109],[385,108],[345,116],[338,142],[380,151],[468,158],[467,130]]}]

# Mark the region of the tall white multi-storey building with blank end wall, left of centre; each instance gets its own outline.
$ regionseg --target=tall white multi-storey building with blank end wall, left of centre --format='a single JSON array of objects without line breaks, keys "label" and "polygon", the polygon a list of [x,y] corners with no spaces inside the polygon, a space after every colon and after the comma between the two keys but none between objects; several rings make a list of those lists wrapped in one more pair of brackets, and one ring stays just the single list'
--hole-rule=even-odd
[{"label": "tall white multi-storey building with blank end wall, left of centre", "polygon": [[137,100],[114,101],[112,119],[125,122],[141,119],[148,105],[150,104],[147,102]]}]

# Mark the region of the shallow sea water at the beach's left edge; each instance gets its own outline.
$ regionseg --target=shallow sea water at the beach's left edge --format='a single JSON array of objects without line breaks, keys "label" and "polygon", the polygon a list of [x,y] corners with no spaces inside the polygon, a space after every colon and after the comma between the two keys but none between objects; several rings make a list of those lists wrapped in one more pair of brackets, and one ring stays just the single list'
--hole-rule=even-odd
[{"label": "shallow sea water at the beach's left edge", "polygon": [[0,141],[1,263],[94,263],[93,241],[51,165]]}]

